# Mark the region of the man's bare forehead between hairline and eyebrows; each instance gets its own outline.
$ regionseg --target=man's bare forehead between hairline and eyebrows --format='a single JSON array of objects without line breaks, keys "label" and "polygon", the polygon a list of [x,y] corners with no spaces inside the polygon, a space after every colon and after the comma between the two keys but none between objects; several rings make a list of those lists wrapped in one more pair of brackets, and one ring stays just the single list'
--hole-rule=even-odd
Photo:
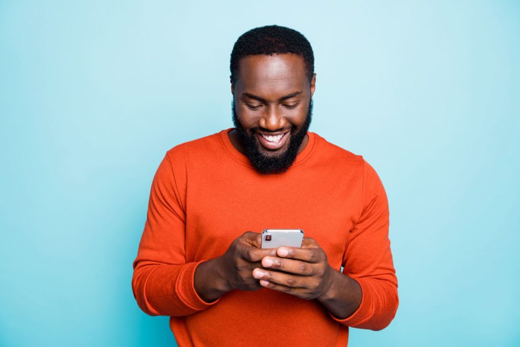
[{"label": "man's bare forehead between hairline and eyebrows", "polygon": [[239,61],[237,88],[247,92],[286,93],[308,84],[303,57],[295,54],[253,55]]}]

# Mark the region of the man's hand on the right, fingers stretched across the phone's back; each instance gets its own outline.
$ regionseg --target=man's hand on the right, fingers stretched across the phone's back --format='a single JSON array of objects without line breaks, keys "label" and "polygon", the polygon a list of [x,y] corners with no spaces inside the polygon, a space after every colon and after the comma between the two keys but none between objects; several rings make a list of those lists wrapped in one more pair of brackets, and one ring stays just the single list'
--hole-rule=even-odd
[{"label": "man's hand on the right, fingers stretched across the phone's back", "polygon": [[306,300],[327,294],[335,270],[314,239],[305,237],[302,248],[280,247],[277,255],[262,259],[262,266],[269,269],[253,270],[253,277],[260,280],[261,286]]}]

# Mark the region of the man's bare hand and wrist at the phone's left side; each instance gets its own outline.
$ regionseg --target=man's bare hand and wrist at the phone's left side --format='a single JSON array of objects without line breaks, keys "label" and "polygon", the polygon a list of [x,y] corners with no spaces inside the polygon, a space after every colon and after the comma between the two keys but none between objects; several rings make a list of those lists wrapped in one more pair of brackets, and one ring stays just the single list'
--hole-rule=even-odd
[{"label": "man's bare hand and wrist at the phone's left side", "polygon": [[264,256],[276,256],[276,248],[262,249],[261,242],[261,234],[245,232],[231,242],[224,255],[199,264],[193,285],[201,299],[212,302],[233,289],[262,288],[253,269],[262,267]]}]

